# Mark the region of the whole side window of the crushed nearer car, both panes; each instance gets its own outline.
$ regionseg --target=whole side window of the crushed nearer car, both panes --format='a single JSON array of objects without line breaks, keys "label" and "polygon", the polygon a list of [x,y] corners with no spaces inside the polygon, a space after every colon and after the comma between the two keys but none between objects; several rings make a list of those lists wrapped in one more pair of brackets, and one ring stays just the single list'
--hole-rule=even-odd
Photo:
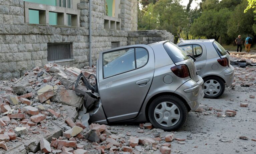
[{"label": "whole side window of the crushed nearer car, both panes", "polygon": [[103,78],[143,67],[147,64],[148,57],[148,51],[142,47],[103,53]]}]

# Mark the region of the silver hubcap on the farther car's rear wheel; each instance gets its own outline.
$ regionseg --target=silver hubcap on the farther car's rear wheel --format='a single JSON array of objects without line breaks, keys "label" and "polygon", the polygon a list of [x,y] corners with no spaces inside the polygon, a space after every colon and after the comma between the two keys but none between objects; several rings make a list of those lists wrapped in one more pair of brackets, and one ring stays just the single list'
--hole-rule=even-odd
[{"label": "silver hubcap on the farther car's rear wheel", "polygon": [[221,90],[221,86],[218,81],[211,79],[205,82],[204,92],[206,95],[209,95],[209,96],[218,95],[220,90]]}]

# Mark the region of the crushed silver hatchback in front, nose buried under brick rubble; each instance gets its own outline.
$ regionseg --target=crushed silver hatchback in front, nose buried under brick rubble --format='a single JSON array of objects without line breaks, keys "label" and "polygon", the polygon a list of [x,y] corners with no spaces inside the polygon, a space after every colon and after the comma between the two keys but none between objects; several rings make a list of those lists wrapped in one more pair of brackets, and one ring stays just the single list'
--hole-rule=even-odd
[{"label": "crushed silver hatchback in front, nose buried under brick rubble", "polygon": [[204,97],[204,82],[192,58],[170,41],[109,49],[99,53],[92,92],[79,89],[82,74],[75,90],[85,96],[90,122],[150,121],[176,130]]}]

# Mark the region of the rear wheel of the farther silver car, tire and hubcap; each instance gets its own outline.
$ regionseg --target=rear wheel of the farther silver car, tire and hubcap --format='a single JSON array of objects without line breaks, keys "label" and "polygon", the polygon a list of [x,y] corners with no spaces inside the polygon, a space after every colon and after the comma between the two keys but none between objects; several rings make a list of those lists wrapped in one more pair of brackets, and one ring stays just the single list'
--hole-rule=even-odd
[{"label": "rear wheel of the farther silver car, tire and hubcap", "polygon": [[[213,85],[213,84],[215,84],[215,85]],[[212,85],[212,87],[210,87],[211,85]],[[216,77],[216,76],[209,76],[209,77],[204,78],[204,86],[205,86],[204,87],[204,93],[205,93],[204,97],[205,98],[217,99],[224,93],[224,90],[225,90],[224,81],[221,78]],[[210,88],[213,88],[215,90],[214,91],[215,93],[214,92],[212,93],[210,91],[211,90]],[[216,91],[218,91],[218,92],[216,92]]]}]

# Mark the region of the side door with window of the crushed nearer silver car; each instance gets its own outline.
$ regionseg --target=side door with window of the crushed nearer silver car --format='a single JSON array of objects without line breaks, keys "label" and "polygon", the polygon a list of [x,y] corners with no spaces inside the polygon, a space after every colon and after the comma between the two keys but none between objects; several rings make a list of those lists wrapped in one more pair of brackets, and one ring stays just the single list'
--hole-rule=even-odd
[{"label": "side door with window of the crushed nearer silver car", "polygon": [[148,45],[131,45],[99,54],[98,89],[108,122],[138,115],[151,86],[155,57]]}]

